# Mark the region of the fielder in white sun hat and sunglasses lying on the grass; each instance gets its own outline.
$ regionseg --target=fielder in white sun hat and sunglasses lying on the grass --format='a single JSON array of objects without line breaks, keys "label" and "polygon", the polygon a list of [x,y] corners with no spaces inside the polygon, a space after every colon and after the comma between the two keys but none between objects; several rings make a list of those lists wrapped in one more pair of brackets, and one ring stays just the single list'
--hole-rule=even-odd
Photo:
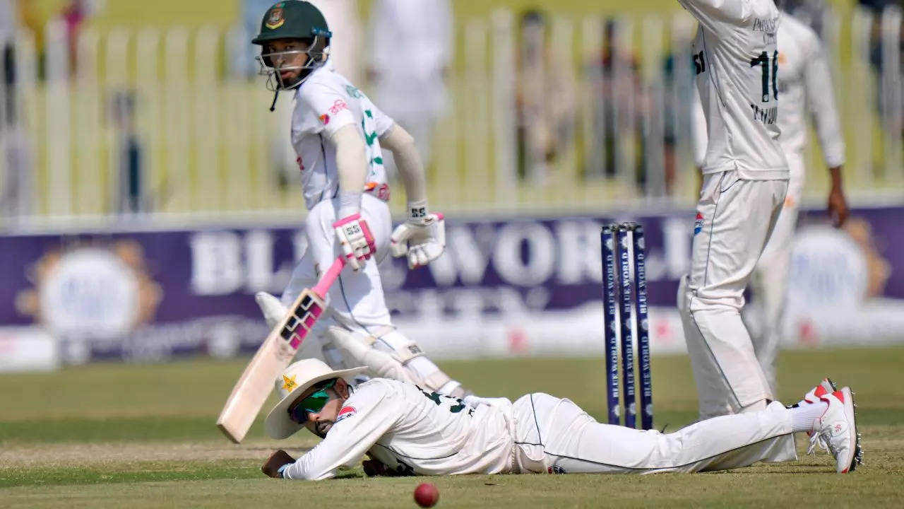
[{"label": "fielder in white sun hat and sunglasses lying on the grass", "polygon": [[773,402],[664,435],[598,423],[570,400],[543,393],[514,403],[479,399],[472,408],[398,380],[371,379],[353,389],[346,379],[360,370],[331,370],[315,359],[287,368],[267,433],[287,438],[307,428],[323,441],[297,461],[278,450],[265,474],[326,479],[357,466],[365,453],[369,475],[704,472],[770,460],[799,432],[812,433],[811,446],[824,442],[837,472],[860,463],[851,389],[829,392],[824,383],[796,408]]}]

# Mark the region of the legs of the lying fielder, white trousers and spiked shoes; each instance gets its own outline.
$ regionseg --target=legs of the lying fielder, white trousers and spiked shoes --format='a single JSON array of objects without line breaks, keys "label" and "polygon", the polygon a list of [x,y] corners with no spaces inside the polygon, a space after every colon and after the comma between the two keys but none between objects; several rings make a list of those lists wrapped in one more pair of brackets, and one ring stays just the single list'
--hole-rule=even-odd
[{"label": "legs of the lying fielder, white trousers and spiked shoes", "polygon": [[[852,464],[856,449],[856,427],[850,391],[824,395],[815,404],[785,408],[773,402],[758,412],[721,416],[692,424],[664,435],[656,430],[597,422],[568,399],[546,394],[530,395],[530,407],[515,403],[521,465],[524,451],[535,458],[541,444],[544,458],[537,465],[552,473],[650,474],[658,472],[702,472],[775,461],[786,441],[796,432],[815,431],[833,442],[839,471]],[[522,413],[532,415],[522,416]],[[527,420],[528,426],[522,426]],[[530,426],[535,427],[532,433]],[[524,433],[522,428],[528,428]],[[786,460],[794,459],[787,457]],[[537,466],[532,471],[541,471]]]}]

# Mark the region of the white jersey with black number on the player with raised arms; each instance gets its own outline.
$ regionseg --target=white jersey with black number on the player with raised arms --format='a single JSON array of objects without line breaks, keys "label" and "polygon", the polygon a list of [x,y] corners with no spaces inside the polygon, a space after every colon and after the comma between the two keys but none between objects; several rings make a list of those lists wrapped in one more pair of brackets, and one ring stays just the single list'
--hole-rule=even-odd
[{"label": "white jersey with black number on the player with raised arms", "polygon": [[772,0],[678,0],[697,20],[693,43],[709,147],[703,173],[788,178],[778,144],[776,31]]}]

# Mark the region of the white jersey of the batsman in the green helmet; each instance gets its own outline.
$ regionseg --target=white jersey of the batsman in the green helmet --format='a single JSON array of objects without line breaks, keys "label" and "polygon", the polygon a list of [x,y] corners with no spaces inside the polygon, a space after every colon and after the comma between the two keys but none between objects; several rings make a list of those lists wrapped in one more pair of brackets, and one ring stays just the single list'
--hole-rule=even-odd
[{"label": "white jersey of the batsman in the green helmet", "polygon": [[332,136],[349,124],[358,128],[366,145],[370,171],[363,190],[385,189],[379,137],[392,127],[393,121],[327,62],[298,87],[292,112],[292,146],[298,156],[308,210],[339,192]]}]

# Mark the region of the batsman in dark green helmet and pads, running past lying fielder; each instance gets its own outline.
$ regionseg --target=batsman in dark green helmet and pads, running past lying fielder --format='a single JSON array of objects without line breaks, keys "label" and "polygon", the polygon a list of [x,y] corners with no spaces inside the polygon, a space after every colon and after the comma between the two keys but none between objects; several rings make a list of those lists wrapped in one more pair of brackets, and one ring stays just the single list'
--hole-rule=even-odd
[{"label": "batsman in dark green helmet and pads, running past lying fielder", "polygon": [[[341,367],[344,355],[334,346],[334,341],[341,341],[344,350],[359,354],[372,375],[462,396],[461,384],[428,360],[415,341],[396,331],[377,269],[388,249],[393,255],[406,255],[410,268],[441,255],[442,215],[428,209],[424,168],[414,139],[334,71],[329,59],[331,35],[314,5],[287,0],[268,9],[260,34],[252,41],[261,46],[259,62],[270,89],[276,94],[294,91],[292,145],[308,208],[307,251],[282,303],[266,293],[258,294],[258,303],[272,327],[285,316],[283,304],[294,302],[337,255],[343,255],[353,271],[344,271],[330,289],[330,316],[317,322],[302,349],[319,356],[316,347],[322,346],[326,360]],[[408,198],[408,220],[392,235],[383,147],[395,154]]]}]

